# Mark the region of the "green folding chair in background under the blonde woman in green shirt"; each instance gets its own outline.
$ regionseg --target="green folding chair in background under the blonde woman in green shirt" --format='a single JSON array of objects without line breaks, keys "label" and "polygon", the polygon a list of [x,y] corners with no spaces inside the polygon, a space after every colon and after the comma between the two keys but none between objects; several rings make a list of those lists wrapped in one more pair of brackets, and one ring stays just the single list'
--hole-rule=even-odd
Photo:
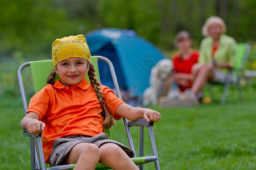
[{"label": "green folding chair in background under the blonde woman in green shirt", "polygon": [[[224,91],[222,94],[221,104],[226,103],[226,97],[228,95],[229,87],[231,84],[236,84],[239,99],[240,99],[240,101],[243,101],[241,79],[243,76],[243,71],[245,69],[245,63],[246,63],[247,58],[250,53],[250,48],[251,48],[250,44],[247,44],[247,43],[238,43],[237,44],[236,65],[234,66],[233,69],[229,69],[229,73],[226,75],[225,87],[224,87]],[[232,76],[236,77],[236,82],[232,82]],[[213,98],[213,92],[212,92],[211,87],[210,87],[210,94]]]}]

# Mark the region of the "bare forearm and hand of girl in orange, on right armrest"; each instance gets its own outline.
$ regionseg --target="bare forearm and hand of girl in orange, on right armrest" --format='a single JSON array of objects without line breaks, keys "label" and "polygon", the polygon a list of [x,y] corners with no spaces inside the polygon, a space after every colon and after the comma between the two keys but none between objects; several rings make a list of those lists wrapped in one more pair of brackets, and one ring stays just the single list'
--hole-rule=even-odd
[{"label": "bare forearm and hand of girl in orange, on right armrest", "polygon": [[115,114],[125,117],[131,121],[138,118],[144,118],[148,122],[157,122],[160,120],[160,113],[147,108],[135,108],[126,103],[120,104],[115,110]]}]

